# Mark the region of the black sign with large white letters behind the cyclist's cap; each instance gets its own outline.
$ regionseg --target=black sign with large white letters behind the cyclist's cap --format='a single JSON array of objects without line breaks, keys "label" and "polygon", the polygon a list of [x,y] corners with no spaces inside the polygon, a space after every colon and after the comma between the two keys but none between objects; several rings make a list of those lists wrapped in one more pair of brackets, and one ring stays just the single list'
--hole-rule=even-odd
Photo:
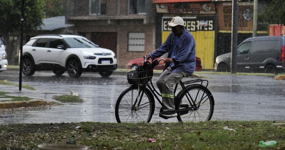
[{"label": "black sign with large white letters behind the cyclist's cap", "polygon": [[[162,31],[171,31],[167,26],[172,17],[162,17]],[[214,17],[182,17],[187,31],[212,31],[214,30]]]}]

